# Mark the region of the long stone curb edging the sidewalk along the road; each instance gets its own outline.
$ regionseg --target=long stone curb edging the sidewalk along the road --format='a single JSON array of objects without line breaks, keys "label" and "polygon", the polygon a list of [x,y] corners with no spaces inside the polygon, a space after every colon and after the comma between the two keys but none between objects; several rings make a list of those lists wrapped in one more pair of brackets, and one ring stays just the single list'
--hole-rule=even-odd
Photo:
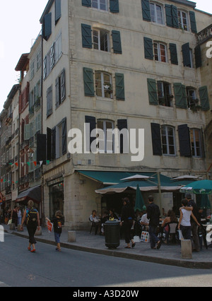
[{"label": "long stone curb edging the sidewalk along the road", "polygon": [[[16,235],[18,237],[23,237],[28,239],[28,235],[20,234],[20,232],[8,232],[5,230],[5,232]],[[37,242],[43,242],[45,244],[51,244],[55,245],[55,242],[51,240],[46,240],[45,238],[36,237]],[[66,249],[73,249],[76,251],[81,252],[90,252],[93,254],[100,254],[100,255],[106,255],[106,256],[114,256],[124,259],[132,259],[132,260],[139,260],[139,261],[145,261],[145,262],[151,262],[153,264],[165,264],[167,266],[179,266],[182,268],[196,268],[196,269],[212,269],[212,262],[204,262],[204,261],[188,261],[188,260],[180,260],[180,259],[163,259],[153,256],[145,256],[140,254],[130,254],[125,253],[122,251],[119,251],[119,249],[95,249],[90,247],[82,247],[77,246],[74,244],[67,244],[66,242],[61,242],[61,247]]]}]

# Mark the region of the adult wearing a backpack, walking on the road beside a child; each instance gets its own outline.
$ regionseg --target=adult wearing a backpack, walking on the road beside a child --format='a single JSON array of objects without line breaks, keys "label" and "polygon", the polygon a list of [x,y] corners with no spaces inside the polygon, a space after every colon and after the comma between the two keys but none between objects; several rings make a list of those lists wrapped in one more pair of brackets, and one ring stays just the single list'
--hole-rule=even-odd
[{"label": "adult wearing a backpack, walking on the road beside a child", "polygon": [[[35,244],[37,243],[35,240],[35,232],[36,230],[40,230],[40,217],[37,209],[33,208],[34,203],[32,200],[28,201],[28,208],[25,209],[23,213],[22,222],[20,228],[23,229],[23,223],[25,219],[27,220],[27,229],[29,234],[29,246],[28,250],[32,253],[35,252]],[[33,246],[33,249],[31,247]]]}]

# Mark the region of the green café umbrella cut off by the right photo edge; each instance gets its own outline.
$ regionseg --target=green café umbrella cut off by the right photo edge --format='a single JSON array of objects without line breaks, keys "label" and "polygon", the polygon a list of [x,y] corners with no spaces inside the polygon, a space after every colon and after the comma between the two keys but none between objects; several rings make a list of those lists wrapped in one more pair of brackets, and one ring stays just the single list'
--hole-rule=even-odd
[{"label": "green caf\u00e9 umbrella cut off by the right photo edge", "polygon": [[182,187],[180,192],[189,194],[212,194],[212,181],[210,179],[194,181]]}]

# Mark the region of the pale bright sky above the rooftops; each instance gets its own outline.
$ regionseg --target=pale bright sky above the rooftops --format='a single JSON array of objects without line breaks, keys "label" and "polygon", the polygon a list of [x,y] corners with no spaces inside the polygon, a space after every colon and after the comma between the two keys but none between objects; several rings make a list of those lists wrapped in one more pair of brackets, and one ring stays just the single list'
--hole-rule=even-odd
[{"label": "pale bright sky above the rooftops", "polygon": [[[192,1],[197,9],[212,14],[211,0]],[[46,5],[47,0],[0,0],[0,112],[11,88],[18,83],[20,73],[15,68],[21,54],[30,52],[40,33],[39,20]]]}]

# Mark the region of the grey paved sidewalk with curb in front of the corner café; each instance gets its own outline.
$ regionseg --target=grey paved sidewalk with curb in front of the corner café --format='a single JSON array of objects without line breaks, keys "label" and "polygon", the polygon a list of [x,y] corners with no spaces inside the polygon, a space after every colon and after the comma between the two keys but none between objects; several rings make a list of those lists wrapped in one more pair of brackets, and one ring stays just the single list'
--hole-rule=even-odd
[{"label": "grey paved sidewalk with curb in front of the corner caf\u00e9", "polygon": [[[5,232],[20,237],[28,238],[28,231],[24,228],[23,232],[9,230],[8,225],[3,225]],[[42,227],[42,235],[36,236],[37,242],[53,244],[54,233],[49,233],[47,228]],[[117,249],[108,249],[105,246],[105,236],[90,234],[88,231],[76,231],[76,242],[68,242],[68,230],[61,234],[61,248],[75,249],[83,252],[95,254],[104,254],[107,256],[117,256],[126,259],[135,259],[148,261],[157,264],[167,264],[171,266],[182,266],[186,268],[212,268],[212,248],[202,247],[201,252],[192,254],[192,259],[181,259],[181,250],[179,244],[162,244],[159,250],[151,249],[150,243],[137,242],[134,249],[124,249],[126,246],[124,240],[120,240]],[[39,243],[37,244],[39,250]]]}]

